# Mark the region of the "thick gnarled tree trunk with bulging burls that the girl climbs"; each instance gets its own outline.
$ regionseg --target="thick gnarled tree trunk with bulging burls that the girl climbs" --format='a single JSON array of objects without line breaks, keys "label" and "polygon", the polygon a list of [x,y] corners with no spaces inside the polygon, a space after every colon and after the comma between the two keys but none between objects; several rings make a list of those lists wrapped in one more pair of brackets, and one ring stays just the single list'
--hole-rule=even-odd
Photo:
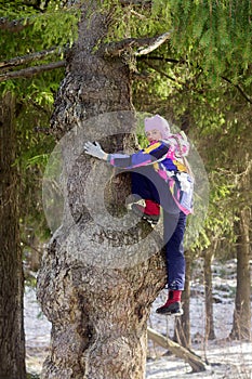
[{"label": "thick gnarled tree trunk with bulging burls that the girl climbs", "polygon": [[[164,286],[165,263],[149,225],[123,226],[129,177],[119,174],[103,187],[101,181],[112,170],[81,154],[87,140],[100,140],[109,153],[122,151],[133,122],[129,68],[120,58],[104,60],[95,49],[109,15],[91,3],[89,19],[89,5],[82,5],[79,38],[52,118],[57,138],[75,132],[62,139],[62,226],[38,277],[38,299],[52,322],[42,378],[143,379],[147,319]],[[149,247],[156,254],[145,256]]]}]

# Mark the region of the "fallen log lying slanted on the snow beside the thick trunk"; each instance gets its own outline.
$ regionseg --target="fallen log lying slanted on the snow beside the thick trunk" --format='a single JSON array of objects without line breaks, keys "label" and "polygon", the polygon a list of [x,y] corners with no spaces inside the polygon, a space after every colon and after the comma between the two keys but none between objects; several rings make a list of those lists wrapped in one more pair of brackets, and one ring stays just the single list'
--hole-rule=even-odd
[{"label": "fallen log lying slanted on the snow beside the thick trunk", "polygon": [[151,328],[147,329],[147,334],[148,338],[151,339],[154,342],[156,342],[164,349],[169,349],[178,358],[182,358],[185,362],[187,362],[193,368],[193,373],[201,373],[207,370],[207,364],[195,353],[181,347],[178,343],[170,340],[169,338],[163,337],[162,335],[160,335]]}]

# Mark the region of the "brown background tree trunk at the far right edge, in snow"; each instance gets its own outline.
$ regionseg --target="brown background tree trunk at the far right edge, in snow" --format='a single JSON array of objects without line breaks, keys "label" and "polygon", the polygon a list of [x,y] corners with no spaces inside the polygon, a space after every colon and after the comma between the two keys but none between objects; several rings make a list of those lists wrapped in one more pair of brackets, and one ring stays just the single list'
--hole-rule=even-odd
[{"label": "brown background tree trunk at the far right edge, in snow", "polygon": [[237,290],[230,338],[251,340],[251,277],[250,277],[250,208],[243,208],[239,218],[237,238]]}]

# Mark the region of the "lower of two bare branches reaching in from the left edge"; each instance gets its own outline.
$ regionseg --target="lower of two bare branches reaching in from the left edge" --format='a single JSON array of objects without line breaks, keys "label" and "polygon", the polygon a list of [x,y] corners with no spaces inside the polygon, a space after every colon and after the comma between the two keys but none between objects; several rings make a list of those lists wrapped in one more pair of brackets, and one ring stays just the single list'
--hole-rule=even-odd
[{"label": "lower of two bare branches reaching in from the left edge", "polygon": [[23,68],[16,71],[4,73],[0,75],[0,82],[9,79],[17,79],[17,78],[29,78],[34,75],[41,74],[44,71],[49,71],[55,68],[64,67],[66,65],[66,61],[53,62],[47,65],[41,66],[32,66],[28,68]]}]

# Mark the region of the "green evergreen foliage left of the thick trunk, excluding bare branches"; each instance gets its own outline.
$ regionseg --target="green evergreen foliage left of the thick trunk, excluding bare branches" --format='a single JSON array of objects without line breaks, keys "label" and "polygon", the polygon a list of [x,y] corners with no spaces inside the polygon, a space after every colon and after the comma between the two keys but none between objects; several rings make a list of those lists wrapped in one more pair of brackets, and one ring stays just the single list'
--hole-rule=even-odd
[{"label": "green evergreen foliage left of the thick trunk, excluding bare branches", "polygon": [[[64,50],[77,37],[78,8],[62,1],[1,1],[1,62],[55,49],[42,60],[18,65],[13,70],[63,60]],[[8,68],[6,68],[8,69]],[[21,174],[21,233],[29,245],[34,237],[44,240],[50,230],[43,214],[41,184],[43,170],[54,140],[47,133],[53,110],[54,94],[64,70],[42,73],[32,78],[0,83],[0,93],[12,91],[16,97],[16,136],[18,151],[15,165]],[[29,249],[29,246],[25,246]]]}]

